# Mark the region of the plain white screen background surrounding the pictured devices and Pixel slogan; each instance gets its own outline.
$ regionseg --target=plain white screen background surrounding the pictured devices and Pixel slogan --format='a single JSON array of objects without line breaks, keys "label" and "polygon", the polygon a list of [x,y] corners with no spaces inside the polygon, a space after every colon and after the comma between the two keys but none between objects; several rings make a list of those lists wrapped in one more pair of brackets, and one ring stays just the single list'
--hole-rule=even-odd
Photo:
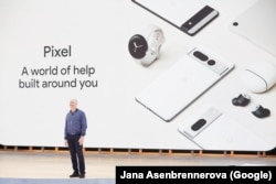
[{"label": "plain white screen background surrounding the pictured devices and Pixel slogan", "polygon": [[[245,91],[238,77],[246,64],[275,62],[275,57],[229,30],[231,21],[255,1],[204,2],[219,10],[220,17],[191,37],[130,0],[0,0],[0,143],[63,145],[68,101],[77,98],[78,108],[88,120],[85,147],[200,149],[180,134],[177,127],[210,102],[275,145],[275,88],[262,95],[251,94],[255,101],[272,109],[267,119],[258,120],[251,109],[231,104],[233,97]],[[166,43],[161,58],[144,67],[132,61],[127,44],[132,34],[151,23],[163,30]],[[70,45],[71,56],[44,57],[44,46],[60,50]],[[173,121],[164,122],[135,101],[135,96],[194,46],[217,52],[233,62],[235,69]],[[57,69],[57,74],[31,73],[49,67]],[[84,71],[74,74],[74,67]],[[87,68],[95,73],[89,76]],[[34,80],[31,88],[23,86]],[[43,82],[64,80],[76,82],[76,87],[42,86]],[[81,89],[79,83],[97,86]]]}]

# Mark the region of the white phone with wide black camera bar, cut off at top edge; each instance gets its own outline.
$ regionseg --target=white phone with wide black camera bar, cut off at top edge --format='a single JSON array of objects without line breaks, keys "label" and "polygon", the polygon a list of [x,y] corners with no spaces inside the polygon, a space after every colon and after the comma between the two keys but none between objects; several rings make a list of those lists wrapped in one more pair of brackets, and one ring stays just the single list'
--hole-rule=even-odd
[{"label": "white phone with wide black camera bar, cut off at top edge", "polygon": [[199,0],[132,0],[173,26],[194,35],[219,15],[219,11]]}]

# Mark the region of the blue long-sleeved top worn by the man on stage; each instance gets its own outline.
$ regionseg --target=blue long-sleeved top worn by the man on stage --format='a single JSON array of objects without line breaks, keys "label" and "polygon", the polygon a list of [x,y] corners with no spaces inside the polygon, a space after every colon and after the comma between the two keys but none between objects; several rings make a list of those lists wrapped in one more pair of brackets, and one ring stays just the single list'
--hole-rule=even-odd
[{"label": "blue long-sleeved top worn by the man on stage", "polygon": [[85,136],[86,128],[87,121],[85,113],[79,109],[76,109],[74,112],[70,111],[65,119],[64,138],[66,139],[67,134]]}]

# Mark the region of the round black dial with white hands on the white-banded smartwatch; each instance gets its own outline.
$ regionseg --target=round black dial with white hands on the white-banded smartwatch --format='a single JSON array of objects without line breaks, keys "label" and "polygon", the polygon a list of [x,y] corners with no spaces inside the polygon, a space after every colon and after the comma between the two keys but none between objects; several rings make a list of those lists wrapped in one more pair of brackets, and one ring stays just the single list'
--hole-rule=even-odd
[{"label": "round black dial with white hands on the white-banded smartwatch", "polygon": [[129,53],[135,58],[142,58],[148,51],[148,44],[144,36],[136,34],[128,42]]}]

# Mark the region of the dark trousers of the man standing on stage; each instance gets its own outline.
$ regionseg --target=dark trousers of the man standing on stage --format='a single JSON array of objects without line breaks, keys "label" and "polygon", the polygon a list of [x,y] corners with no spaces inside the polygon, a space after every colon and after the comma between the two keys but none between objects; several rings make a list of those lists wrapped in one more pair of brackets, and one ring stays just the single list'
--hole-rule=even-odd
[{"label": "dark trousers of the man standing on stage", "polygon": [[83,145],[79,145],[81,136],[67,136],[72,166],[75,173],[85,174]]}]

